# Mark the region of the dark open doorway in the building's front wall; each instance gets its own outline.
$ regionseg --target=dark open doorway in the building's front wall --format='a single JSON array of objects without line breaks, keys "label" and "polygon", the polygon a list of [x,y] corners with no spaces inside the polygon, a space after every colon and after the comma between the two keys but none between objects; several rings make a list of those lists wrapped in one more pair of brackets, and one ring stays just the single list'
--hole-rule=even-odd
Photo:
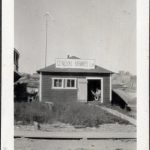
[{"label": "dark open doorway in the building's front wall", "polygon": [[[94,93],[100,90],[99,97],[95,97]],[[87,80],[87,91],[88,91],[88,101],[102,101],[102,82],[101,79],[88,79]]]}]

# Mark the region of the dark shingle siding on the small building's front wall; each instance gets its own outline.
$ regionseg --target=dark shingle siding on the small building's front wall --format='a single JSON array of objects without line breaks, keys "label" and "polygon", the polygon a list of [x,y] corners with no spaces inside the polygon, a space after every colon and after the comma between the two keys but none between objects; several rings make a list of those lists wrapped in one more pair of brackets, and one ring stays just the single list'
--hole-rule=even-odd
[{"label": "dark shingle siding on the small building's front wall", "polygon": [[[110,103],[110,75],[99,76],[103,78],[103,102]],[[53,89],[52,78],[86,78],[86,76],[54,76],[42,74],[42,101],[77,101],[77,89]]]}]

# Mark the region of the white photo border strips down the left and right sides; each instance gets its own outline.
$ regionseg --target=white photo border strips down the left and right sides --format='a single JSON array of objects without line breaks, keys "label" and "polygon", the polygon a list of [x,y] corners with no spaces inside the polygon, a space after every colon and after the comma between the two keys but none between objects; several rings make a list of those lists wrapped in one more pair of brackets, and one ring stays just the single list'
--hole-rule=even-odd
[{"label": "white photo border strips down the left and right sides", "polygon": [[[14,149],[14,1],[2,0],[1,149]],[[149,150],[149,1],[137,0],[137,150]]]}]

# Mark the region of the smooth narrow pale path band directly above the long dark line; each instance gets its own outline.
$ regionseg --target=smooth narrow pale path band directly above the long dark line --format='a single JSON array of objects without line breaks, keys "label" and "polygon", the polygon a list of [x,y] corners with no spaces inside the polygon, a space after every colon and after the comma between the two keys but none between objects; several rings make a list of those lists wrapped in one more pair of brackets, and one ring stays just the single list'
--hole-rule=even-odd
[{"label": "smooth narrow pale path band directly above the long dark line", "polygon": [[38,139],[134,139],[135,132],[43,132],[43,131],[15,131],[15,137],[27,137]]}]

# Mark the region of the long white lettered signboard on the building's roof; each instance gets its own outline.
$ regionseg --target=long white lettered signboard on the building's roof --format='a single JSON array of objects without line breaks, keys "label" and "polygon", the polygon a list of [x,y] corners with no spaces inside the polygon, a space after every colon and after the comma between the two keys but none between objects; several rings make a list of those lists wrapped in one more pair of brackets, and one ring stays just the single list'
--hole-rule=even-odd
[{"label": "long white lettered signboard on the building's roof", "polygon": [[56,68],[79,68],[94,69],[95,61],[93,59],[56,59]]}]

